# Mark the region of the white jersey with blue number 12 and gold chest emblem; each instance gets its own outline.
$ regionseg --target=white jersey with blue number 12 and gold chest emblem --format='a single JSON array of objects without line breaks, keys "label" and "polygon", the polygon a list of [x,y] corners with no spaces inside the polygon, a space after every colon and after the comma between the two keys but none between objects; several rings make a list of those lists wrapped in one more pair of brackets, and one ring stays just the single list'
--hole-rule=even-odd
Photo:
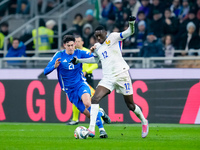
[{"label": "white jersey with blue number 12 and gold chest emblem", "polygon": [[129,70],[122,57],[122,33],[111,33],[103,44],[96,43],[94,53],[102,63],[103,76],[116,76]]}]

